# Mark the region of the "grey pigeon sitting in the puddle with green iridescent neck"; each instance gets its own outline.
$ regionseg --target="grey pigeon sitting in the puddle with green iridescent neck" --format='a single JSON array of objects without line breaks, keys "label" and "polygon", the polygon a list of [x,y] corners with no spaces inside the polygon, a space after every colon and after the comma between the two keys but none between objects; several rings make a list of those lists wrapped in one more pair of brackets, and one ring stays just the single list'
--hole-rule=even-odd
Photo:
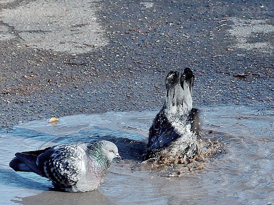
[{"label": "grey pigeon sitting in the puddle with green iridescent neck", "polygon": [[68,192],[97,189],[110,169],[112,159],[121,156],[117,146],[102,140],[56,145],[42,150],[17,152],[9,166],[19,172],[34,172],[50,179],[54,187]]}]

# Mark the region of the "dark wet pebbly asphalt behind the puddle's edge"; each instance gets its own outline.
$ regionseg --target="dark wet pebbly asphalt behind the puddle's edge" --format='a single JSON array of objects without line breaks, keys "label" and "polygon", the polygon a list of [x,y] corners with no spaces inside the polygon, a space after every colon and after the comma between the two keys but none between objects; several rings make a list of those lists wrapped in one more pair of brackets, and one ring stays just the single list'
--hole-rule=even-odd
[{"label": "dark wet pebbly asphalt behind the puddle's edge", "polygon": [[[78,2],[78,8],[92,13],[96,34],[91,43],[82,42],[80,52],[58,49],[64,36],[50,40],[55,47],[46,45],[47,24],[33,30],[33,21],[27,30],[23,20],[14,23],[18,16],[13,20],[12,15],[30,4],[41,6],[39,1],[0,1],[2,128],[53,116],[158,109],[166,74],[185,67],[195,73],[194,106],[273,108],[271,1],[100,0],[83,8]],[[79,39],[89,29],[86,21],[72,26],[80,29]],[[31,41],[35,35],[42,43]]]}]

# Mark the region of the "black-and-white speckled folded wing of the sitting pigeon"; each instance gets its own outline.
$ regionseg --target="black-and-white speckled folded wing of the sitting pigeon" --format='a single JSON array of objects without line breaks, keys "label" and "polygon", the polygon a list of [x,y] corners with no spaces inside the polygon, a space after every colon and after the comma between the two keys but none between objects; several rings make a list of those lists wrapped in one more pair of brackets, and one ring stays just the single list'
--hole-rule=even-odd
[{"label": "black-and-white speckled folded wing of the sitting pigeon", "polygon": [[85,171],[84,147],[85,143],[54,146],[38,156],[38,167],[60,188],[72,187]]}]

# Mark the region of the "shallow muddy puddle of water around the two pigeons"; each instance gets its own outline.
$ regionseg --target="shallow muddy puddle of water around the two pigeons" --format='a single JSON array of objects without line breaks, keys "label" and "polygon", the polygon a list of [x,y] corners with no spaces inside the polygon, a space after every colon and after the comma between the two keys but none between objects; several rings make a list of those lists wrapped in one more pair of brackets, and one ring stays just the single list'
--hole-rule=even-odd
[{"label": "shallow muddy puddle of water around the two pigeons", "polygon": [[[109,112],[59,118],[57,125],[32,121],[0,133],[0,203],[3,204],[267,204],[274,203],[274,110],[247,106],[200,108],[205,137],[227,143],[207,160],[203,173],[169,177],[169,171],[137,164],[157,111]],[[128,138],[129,140],[125,140]],[[114,160],[98,190],[49,190],[47,179],[16,173],[15,152],[75,141],[117,141],[124,160]]]}]

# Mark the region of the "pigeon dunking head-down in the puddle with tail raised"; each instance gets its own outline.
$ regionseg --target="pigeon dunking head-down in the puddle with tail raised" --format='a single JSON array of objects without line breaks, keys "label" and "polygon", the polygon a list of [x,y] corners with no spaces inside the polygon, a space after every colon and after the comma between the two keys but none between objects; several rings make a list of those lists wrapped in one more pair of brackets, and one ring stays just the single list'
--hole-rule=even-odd
[{"label": "pigeon dunking head-down in the puddle with tail raised", "polygon": [[199,153],[194,125],[198,110],[192,108],[194,78],[190,68],[181,76],[178,71],[167,74],[165,101],[149,129],[147,159],[164,155],[190,159]]}]

